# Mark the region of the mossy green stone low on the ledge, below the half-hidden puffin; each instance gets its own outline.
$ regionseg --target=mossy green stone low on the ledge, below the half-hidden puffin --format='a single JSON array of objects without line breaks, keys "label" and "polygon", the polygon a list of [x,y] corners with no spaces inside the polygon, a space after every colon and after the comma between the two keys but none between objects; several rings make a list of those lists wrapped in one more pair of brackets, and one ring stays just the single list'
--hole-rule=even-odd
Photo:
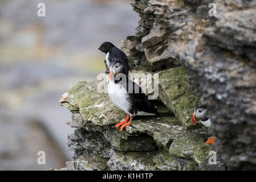
[{"label": "mossy green stone low on the ledge, below the half-hidden puffin", "polygon": [[170,145],[169,153],[182,158],[191,159],[197,164],[202,164],[212,151],[211,144],[206,144],[200,134],[192,133],[174,139]]}]

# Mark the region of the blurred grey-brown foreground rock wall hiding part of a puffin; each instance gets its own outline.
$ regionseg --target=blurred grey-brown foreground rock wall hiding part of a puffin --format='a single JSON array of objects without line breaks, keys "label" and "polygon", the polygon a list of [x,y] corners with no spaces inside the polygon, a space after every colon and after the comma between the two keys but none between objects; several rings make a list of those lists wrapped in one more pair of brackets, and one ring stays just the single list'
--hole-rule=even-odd
[{"label": "blurred grey-brown foreground rock wall hiding part of a puffin", "polygon": [[187,68],[191,89],[208,106],[219,169],[254,169],[256,1],[215,2],[217,16],[207,19],[195,15],[194,5],[177,9],[188,11],[182,19],[170,20],[173,27],[185,26],[173,29],[169,50]]}]

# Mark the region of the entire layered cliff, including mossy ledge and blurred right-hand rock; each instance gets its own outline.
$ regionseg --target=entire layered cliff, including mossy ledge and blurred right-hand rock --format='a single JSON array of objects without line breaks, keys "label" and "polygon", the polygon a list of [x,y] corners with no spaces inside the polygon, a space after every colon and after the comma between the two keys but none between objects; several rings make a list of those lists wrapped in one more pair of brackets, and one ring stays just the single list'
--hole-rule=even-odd
[{"label": "entire layered cliff, including mossy ledge and blurred right-hand rock", "polygon": [[[216,15],[209,16],[209,4]],[[123,40],[132,73],[153,73],[160,116],[137,117],[124,131],[125,113],[105,92],[107,75],[75,82],[61,104],[72,112],[72,170],[194,170],[256,168],[256,1],[137,0],[141,20]],[[156,77],[155,77],[156,75]],[[141,80],[135,80],[141,85]],[[100,89],[99,89],[100,88]],[[152,94],[144,90],[147,94]],[[201,100],[200,100],[201,98]],[[196,105],[208,105],[208,129],[191,125]],[[217,165],[208,163],[217,152]]]}]

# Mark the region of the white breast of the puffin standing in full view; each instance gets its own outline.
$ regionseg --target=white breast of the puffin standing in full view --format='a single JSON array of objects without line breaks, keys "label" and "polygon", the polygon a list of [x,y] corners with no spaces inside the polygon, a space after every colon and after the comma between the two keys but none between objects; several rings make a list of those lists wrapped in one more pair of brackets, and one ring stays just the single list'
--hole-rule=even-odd
[{"label": "white breast of the puffin standing in full view", "polygon": [[129,102],[129,94],[127,90],[120,84],[115,84],[113,81],[108,83],[108,95],[111,98],[113,104],[119,109],[130,114],[128,110],[131,109],[131,103]]}]

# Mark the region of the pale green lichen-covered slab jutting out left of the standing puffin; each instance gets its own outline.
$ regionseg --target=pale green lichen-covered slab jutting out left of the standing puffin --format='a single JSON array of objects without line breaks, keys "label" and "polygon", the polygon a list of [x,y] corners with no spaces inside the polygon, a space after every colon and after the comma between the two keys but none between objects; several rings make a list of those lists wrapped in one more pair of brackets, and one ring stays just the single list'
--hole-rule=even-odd
[{"label": "pale green lichen-covered slab jutting out left of the standing puffin", "polygon": [[[107,75],[100,74],[90,83],[75,82],[68,88],[67,99],[64,103],[68,102],[70,105],[78,107],[84,120],[92,121],[97,125],[109,125],[121,121],[125,113],[116,109],[110,100],[106,92],[107,79]],[[115,118],[111,117],[113,115]]]}]

